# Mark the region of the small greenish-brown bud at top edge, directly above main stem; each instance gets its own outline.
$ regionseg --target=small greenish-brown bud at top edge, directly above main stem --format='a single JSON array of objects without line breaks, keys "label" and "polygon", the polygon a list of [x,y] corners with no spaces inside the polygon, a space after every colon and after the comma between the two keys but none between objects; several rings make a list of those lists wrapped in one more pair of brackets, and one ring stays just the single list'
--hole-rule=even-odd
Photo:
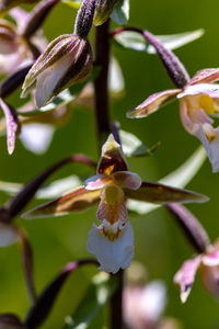
[{"label": "small greenish-brown bud at top edge, directly above main stem", "polygon": [[94,15],[94,25],[102,25],[110,18],[118,0],[97,0]]}]

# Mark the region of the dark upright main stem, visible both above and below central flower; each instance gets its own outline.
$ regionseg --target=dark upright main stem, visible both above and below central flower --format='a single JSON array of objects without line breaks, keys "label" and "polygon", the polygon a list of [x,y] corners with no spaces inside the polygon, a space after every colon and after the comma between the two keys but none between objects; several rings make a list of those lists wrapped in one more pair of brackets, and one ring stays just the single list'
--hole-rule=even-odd
[{"label": "dark upright main stem, visible both above and below central flower", "polygon": [[[95,65],[100,67],[100,75],[94,81],[95,95],[95,117],[99,149],[106,139],[106,136],[112,132],[110,116],[110,95],[108,95],[108,66],[111,58],[110,45],[110,19],[102,25],[95,29]],[[114,132],[113,132],[114,133]],[[117,138],[116,138],[117,139]],[[124,270],[120,270],[118,276],[118,288],[110,300],[110,328],[123,328],[123,281]]]}]

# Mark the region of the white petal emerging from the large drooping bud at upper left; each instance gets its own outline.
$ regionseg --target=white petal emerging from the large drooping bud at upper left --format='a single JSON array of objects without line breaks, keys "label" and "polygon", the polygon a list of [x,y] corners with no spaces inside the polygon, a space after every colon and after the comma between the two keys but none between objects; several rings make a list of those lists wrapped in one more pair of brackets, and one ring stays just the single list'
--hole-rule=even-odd
[{"label": "white petal emerging from the large drooping bud at upper left", "polygon": [[56,86],[65,76],[71,64],[72,54],[69,53],[61,57],[61,59],[59,59],[54,66],[48,67],[38,75],[35,93],[36,104],[38,107],[46,105],[46,103],[53,98]]}]

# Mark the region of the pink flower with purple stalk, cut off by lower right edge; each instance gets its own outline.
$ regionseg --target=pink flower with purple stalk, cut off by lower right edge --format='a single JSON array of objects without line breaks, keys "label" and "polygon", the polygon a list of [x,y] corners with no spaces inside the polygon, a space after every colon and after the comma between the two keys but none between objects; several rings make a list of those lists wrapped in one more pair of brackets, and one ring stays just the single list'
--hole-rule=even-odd
[{"label": "pink flower with purple stalk, cut off by lower right edge", "polygon": [[197,254],[186,260],[174,276],[174,282],[180,285],[181,300],[185,303],[197,270],[200,270],[201,280],[206,290],[219,299],[219,240],[211,245],[210,239],[198,219],[184,206],[168,204],[166,208],[176,219],[185,237],[197,251]]}]

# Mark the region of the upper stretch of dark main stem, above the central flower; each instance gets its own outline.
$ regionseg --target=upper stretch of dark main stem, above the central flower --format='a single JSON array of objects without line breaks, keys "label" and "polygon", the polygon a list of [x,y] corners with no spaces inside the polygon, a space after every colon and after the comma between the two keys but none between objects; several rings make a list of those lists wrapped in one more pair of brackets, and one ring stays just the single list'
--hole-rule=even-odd
[{"label": "upper stretch of dark main stem, above the central flower", "polygon": [[99,146],[105,143],[111,133],[110,100],[108,100],[108,65],[111,56],[110,20],[95,31],[95,65],[100,68],[99,77],[94,81],[95,116]]}]

